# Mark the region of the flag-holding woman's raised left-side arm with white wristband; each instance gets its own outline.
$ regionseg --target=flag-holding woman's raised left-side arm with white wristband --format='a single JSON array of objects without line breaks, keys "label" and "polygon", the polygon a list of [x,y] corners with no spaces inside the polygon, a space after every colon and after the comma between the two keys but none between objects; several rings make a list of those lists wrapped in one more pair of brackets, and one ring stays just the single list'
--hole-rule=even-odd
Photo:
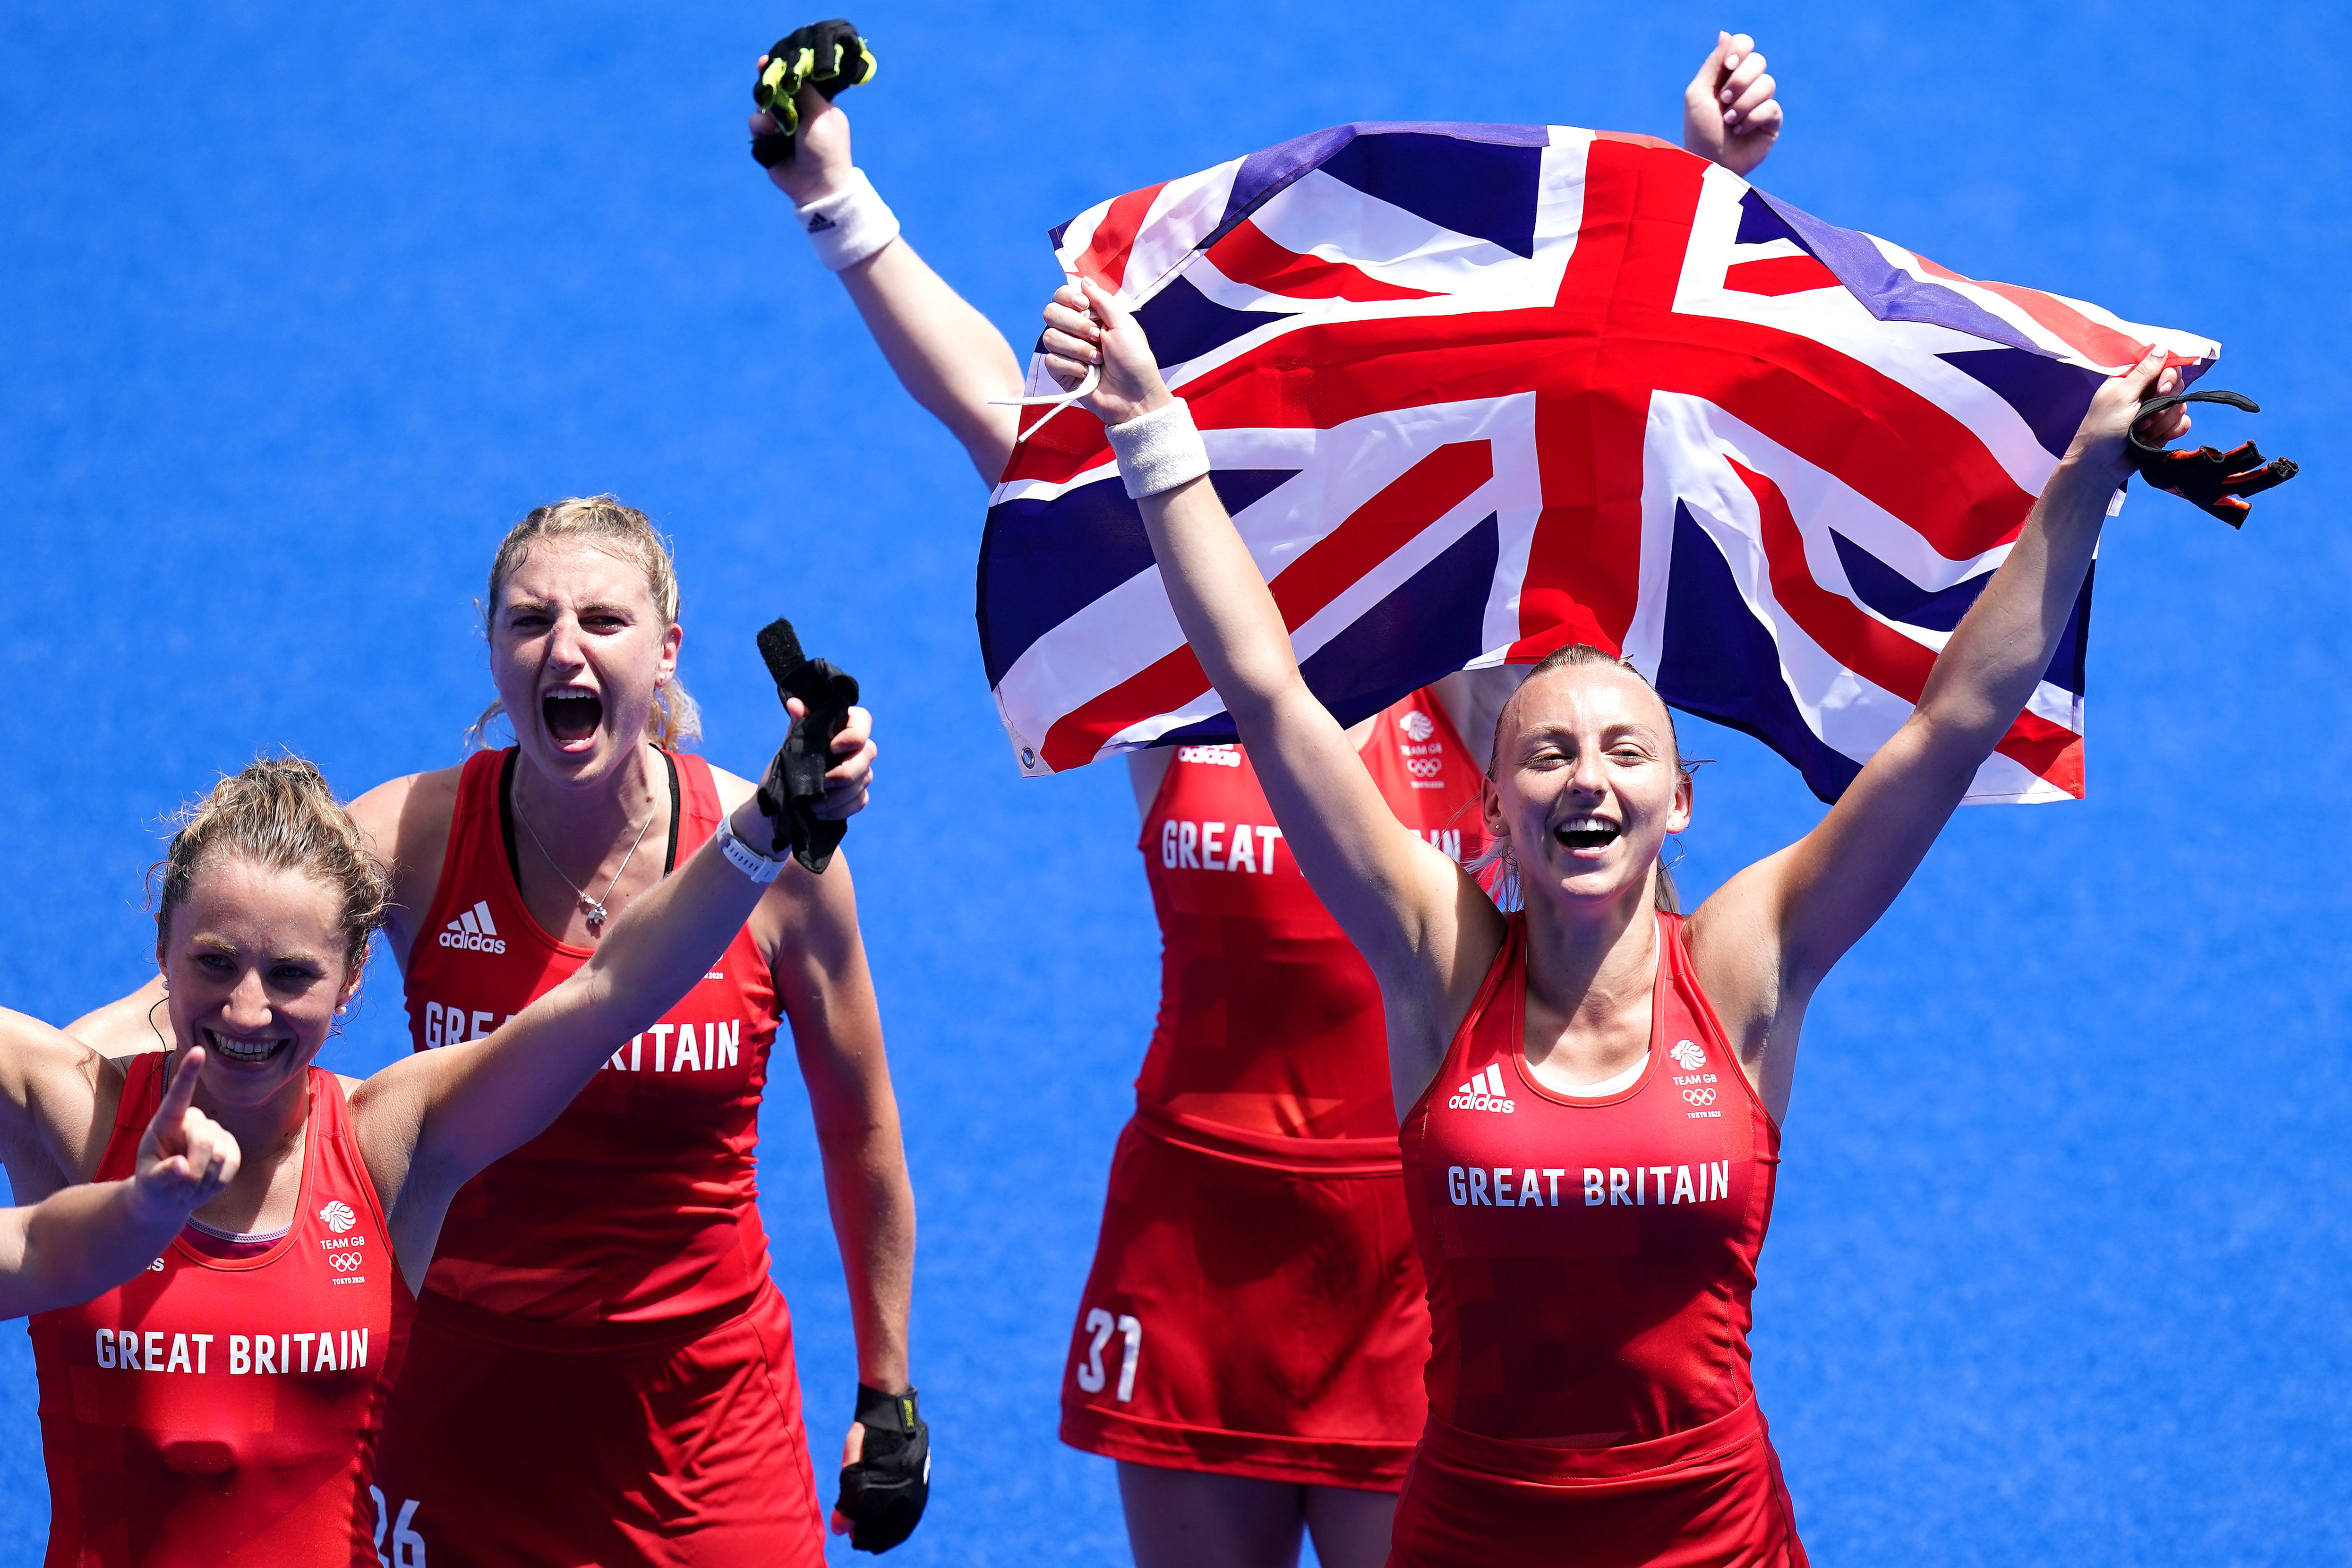
[{"label": "flag-holding woman's raised left-side arm with white wristband", "polygon": [[[1190,430],[1143,329],[1117,301],[1091,282],[1084,296],[1063,287],[1044,320],[1049,367],[1065,386],[1103,364],[1103,386],[1087,407],[1112,425],[1115,444]],[[1138,508],[1176,621],[1249,745],[1298,870],[1381,978],[1392,1046],[1404,1034],[1442,1044],[1451,1032],[1446,1013],[1458,1011],[1458,971],[1470,966],[1475,990],[1503,922],[1444,851],[1397,823],[1338,719],[1298,675],[1282,609],[1204,463],[1190,475],[1129,480],[1129,494],[1145,491]],[[1470,997],[1458,1001],[1465,1009]]]}]

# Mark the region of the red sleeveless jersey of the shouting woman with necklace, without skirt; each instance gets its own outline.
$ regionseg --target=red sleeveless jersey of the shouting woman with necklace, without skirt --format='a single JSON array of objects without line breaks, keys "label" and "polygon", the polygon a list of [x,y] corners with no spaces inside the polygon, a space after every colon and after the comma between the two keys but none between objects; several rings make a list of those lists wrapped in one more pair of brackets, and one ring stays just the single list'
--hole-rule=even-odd
[{"label": "red sleeveless jersey of the shouting woman with necklace, without skirt", "polygon": [[[489,1034],[588,961],[515,889],[515,752],[459,776],[433,910],[409,952],[414,1048]],[[717,832],[710,764],[663,752],[668,865]],[[647,1321],[739,1302],[767,1279],[753,1182],[776,1039],[767,959],[739,931],[684,1001],[614,1051],[548,1131],[459,1190],[426,1288],[541,1324]]]}]

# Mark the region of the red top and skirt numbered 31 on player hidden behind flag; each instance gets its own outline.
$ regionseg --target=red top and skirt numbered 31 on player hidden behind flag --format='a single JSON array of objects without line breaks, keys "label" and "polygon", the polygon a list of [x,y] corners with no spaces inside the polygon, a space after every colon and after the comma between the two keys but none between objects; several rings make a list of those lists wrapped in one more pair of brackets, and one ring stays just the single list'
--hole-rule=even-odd
[{"label": "red top and skirt numbered 31 on player hidden behind flag", "polygon": [[[1432,691],[1359,748],[1397,820],[1477,856],[1477,764]],[[1143,818],[1160,1025],[1110,1164],[1063,1439],[1141,1465],[1395,1488],[1428,1307],[1381,992],[1240,745],[1183,745]]]}]

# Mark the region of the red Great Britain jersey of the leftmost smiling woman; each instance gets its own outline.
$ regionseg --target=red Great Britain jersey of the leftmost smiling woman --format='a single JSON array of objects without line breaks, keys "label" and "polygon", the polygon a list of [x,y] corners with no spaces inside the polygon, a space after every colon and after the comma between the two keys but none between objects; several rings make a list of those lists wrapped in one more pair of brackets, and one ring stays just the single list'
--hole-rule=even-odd
[{"label": "red Great Britain jersey of the leftmost smiling woman", "polygon": [[[127,1063],[99,1180],[136,1171],[162,1053]],[[414,1300],[332,1072],[310,1070],[285,1241],[181,1234],[139,1279],[33,1316],[49,1568],[376,1563],[367,1493]]]}]

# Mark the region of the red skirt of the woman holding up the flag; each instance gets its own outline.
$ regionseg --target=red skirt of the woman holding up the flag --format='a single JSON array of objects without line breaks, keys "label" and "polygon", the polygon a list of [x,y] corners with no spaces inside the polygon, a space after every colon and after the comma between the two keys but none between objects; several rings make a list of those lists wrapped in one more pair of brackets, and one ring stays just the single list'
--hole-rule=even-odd
[{"label": "red skirt of the woman holding up the flag", "polygon": [[1623,1448],[1543,1448],[1430,1415],[1390,1568],[1804,1568],[1780,1460],[1750,1399]]}]

